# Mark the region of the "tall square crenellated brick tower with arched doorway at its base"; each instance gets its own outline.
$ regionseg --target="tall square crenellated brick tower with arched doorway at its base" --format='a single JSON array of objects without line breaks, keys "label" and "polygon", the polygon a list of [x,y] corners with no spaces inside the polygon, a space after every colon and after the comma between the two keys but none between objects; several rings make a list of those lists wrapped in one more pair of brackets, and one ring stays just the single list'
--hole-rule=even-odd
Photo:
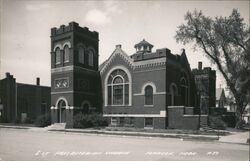
[{"label": "tall square crenellated brick tower with arched doorway at its base", "polygon": [[50,37],[52,123],[73,127],[74,115],[101,112],[98,32],[70,22]]}]

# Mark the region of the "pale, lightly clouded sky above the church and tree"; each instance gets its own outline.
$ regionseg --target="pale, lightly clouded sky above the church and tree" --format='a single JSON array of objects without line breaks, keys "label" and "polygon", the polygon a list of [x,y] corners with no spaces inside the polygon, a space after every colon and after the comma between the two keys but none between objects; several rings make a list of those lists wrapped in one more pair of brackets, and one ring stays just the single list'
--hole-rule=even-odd
[{"label": "pale, lightly clouded sky above the church and tree", "polygon": [[[191,68],[198,61],[216,67],[202,51],[190,44],[178,44],[177,26],[185,23],[184,15],[194,9],[204,15],[229,16],[238,9],[249,25],[249,1],[67,1],[67,0],[0,0],[0,79],[5,73],[17,82],[50,86],[50,29],[71,21],[99,32],[99,62],[105,61],[121,44],[128,54],[142,39],[154,45],[153,51],[168,48],[173,54],[186,50]],[[217,71],[217,87],[225,83]]]}]

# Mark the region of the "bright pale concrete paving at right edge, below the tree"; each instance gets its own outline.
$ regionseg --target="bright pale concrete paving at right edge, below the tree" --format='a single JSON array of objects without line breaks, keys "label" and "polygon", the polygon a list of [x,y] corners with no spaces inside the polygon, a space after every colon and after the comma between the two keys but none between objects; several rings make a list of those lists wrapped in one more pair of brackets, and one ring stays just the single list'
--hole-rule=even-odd
[{"label": "bright pale concrete paving at right edge, below the tree", "polygon": [[[219,141],[224,143],[238,143],[247,144],[247,139],[249,139],[250,132],[234,132],[232,135],[221,136]],[[249,144],[249,143],[248,143]]]}]

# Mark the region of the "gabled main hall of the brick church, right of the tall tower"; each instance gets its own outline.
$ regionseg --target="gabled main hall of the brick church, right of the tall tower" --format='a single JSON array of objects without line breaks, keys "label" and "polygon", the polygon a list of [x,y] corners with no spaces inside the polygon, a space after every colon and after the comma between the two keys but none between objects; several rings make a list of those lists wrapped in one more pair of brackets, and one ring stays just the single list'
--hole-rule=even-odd
[{"label": "gabled main hall of the brick church, right of the tall tower", "polygon": [[142,40],[128,56],[117,45],[99,70],[103,115],[112,126],[168,127],[168,106],[195,107],[196,87],[185,50],[180,55],[167,48],[152,51]]}]

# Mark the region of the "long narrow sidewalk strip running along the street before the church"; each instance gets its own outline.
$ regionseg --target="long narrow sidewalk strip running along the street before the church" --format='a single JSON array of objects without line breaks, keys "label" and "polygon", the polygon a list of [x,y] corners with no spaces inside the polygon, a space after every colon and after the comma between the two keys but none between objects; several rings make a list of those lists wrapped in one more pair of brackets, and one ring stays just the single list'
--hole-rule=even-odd
[{"label": "long narrow sidewalk strip running along the street before the church", "polygon": [[161,138],[179,138],[183,140],[200,140],[200,141],[219,141],[222,143],[247,144],[249,132],[233,132],[232,135],[200,135],[200,134],[179,134],[179,133],[157,133],[157,132],[137,132],[137,131],[109,131],[105,129],[49,129],[39,127],[24,126],[7,126],[0,125],[0,128],[28,129],[30,131],[49,131],[49,132],[69,132],[85,134],[103,134],[103,135],[120,135],[120,136],[142,136],[142,137],[161,137]]}]

